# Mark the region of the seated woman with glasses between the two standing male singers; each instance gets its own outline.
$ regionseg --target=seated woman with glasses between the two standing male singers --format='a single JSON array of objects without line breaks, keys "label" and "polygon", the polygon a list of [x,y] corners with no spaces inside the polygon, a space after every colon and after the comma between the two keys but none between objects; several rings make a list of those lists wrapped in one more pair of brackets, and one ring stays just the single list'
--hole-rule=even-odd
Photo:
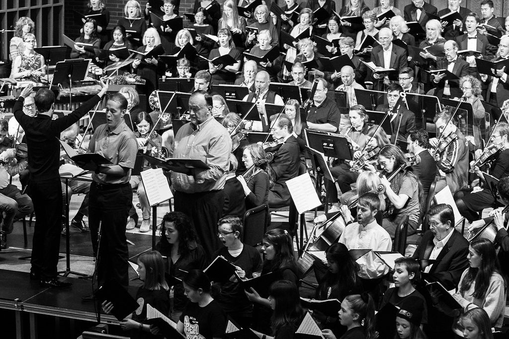
[{"label": "seated woman with glasses between the two standing male singers", "polygon": [[[162,138],[156,132],[152,132],[152,135],[149,133],[154,128],[154,122],[150,117],[150,114],[146,112],[139,112],[133,119],[133,125],[136,126],[136,132],[134,133],[136,136],[136,142],[138,144],[138,149],[142,150],[144,153],[148,153],[151,156],[161,158],[159,155],[161,152],[162,146]],[[148,169],[148,163],[143,160],[144,166],[143,169]],[[150,215],[152,207],[149,205],[149,201],[147,199],[147,195],[145,194],[145,187],[143,184],[140,184],[142,181],[142,177],[140,175],[131,175],[131,179],[129,183],[131,184],[131,188],[136,189],[136,193],[139,199],[139,205],[142,208],[142,216],[143,221],[142,225],[139,227],[140,232],[148,232],[150,231],[151,221]],[[131,204],[131,210],[129,212],[129,221],[126,225],[127,230],[132,230],[138,221],[138,214],[134,206]]]}]

